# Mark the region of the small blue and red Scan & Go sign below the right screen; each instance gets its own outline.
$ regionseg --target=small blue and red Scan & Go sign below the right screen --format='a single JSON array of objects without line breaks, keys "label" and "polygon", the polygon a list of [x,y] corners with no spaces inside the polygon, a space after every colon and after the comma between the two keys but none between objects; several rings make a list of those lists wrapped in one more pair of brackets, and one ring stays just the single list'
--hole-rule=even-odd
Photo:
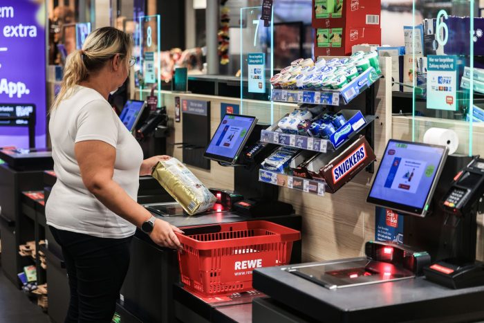
[{"label": "small blue and red Scan & Go sign below the right screen", "polygon": [[375,240],[403,243],[403,215],[377,206],[375,210]]}]

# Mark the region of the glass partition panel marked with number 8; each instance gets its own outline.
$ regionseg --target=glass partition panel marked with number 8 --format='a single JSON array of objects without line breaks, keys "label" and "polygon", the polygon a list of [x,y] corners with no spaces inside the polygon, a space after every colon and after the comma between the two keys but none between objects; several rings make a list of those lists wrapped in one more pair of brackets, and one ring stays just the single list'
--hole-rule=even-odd
[{"label": "glass partition panel marked with number 8", "polygon": [[158,107],[161,104],[161,71],[160,71],[160,15],[142,16],[139,28],[139,65],[137,78],[140,100],[145,100],[143,90],[155,89],[158,93]]}]

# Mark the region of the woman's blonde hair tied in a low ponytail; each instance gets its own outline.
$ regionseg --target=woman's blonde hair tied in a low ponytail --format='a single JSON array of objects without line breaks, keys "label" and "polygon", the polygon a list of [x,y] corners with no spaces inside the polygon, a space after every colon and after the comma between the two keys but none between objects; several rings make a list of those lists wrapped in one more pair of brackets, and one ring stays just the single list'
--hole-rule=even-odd
[{"label": "woman's blonde hair tied in a low ponytail", "polygon": [[68,55],[61,89],[49,112],[54,111],[62,100],[68,99],[77,84],[100,71],[114,55],[120,54],[121,59],[128,62],[132,52],[133,39],[127,33],[113,27],[94,30],[84,41],[82,50]]}]

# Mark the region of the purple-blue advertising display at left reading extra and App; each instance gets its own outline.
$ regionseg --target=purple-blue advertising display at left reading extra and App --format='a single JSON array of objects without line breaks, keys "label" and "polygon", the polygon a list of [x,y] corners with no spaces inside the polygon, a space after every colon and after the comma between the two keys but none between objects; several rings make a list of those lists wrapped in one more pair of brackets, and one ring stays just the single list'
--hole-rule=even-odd
[{"label": "purple-blue advertising display at left reading extra and App", "polygon": [[[35,146],[46,147],[44,1],[0,2],[0,104],[35,105]],[[28,129],[0,127],[0,147],[28,147]]]}]

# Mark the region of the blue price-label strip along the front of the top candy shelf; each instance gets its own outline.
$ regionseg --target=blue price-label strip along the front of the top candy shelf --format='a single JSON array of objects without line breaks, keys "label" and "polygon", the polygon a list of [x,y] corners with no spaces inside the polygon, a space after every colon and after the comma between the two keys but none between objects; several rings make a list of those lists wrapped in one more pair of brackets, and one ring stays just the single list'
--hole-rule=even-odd
[{"label": "blue price-label strip along the front of the top candy shelf", "polygon": [[375,77],[373,67],[366,70],[362,75],[355,78],[342,90],[304,91],[304,90],[280,90],[273,89],[271,100],[276,102],[326,104],[339,106],[348,104],[360,93],[366,91],[371,84],[375,83],[381,75]]}]

